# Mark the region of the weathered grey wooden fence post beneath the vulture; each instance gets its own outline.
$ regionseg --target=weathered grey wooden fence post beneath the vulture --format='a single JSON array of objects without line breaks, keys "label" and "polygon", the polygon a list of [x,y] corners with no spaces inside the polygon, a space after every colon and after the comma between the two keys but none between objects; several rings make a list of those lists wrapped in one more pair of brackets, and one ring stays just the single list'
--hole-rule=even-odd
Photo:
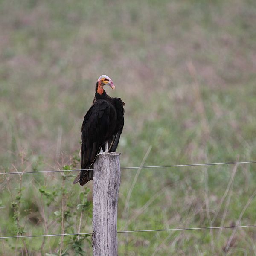
[{"label": "weathered grey wooden fence post beneath the vulture", "polygon": [[117,256],[117,200],[120,154],[97,157],[93,174],[93,256]]}]

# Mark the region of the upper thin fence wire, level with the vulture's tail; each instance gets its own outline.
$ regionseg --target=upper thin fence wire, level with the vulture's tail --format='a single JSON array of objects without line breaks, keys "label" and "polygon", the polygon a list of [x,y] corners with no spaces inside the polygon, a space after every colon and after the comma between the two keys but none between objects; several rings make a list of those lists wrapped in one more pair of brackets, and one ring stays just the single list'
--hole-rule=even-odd
[{"label": "upper thin fence wire, level with the vulture's tail", "polygon": [[[140,169],[140,168],[163,168],[163,167],[182,167],[182,166],[212,166],[212,165],[225,165],[225,164],[243,164],[243,163],[256,163],[256,161],[247,162],[229,162],[229,163],[192,163],[192,164],[177,164],[166,166],[136,166],[136,167],[121,167],[121,169]],[[52,171],[35,171],[35,172],[0,172],[0,174],[27,174],[27,173],[42,173],[42,172],[73,172],[73,171],[87,171],[93,169],[73,169],[73,170],[52,170]]]}]

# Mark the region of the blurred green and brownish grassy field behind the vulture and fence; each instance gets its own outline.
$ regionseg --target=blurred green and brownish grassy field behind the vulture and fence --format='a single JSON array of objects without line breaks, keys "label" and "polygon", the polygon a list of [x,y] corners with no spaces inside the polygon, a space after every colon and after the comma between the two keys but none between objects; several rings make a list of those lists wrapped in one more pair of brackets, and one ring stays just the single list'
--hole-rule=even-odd
[{"label": "blurred green and brownish grassy field behind the vulture and fence", "polygon": [[[256,160],[256,1],[0,0],[1,172],[79,169],[97,78],[126,103],[122,167]],[[124,169],[118,230],[256,224],[256,165]],[[76,172],[0,175],[0,236],[92,231]],[[118,235],[119,255],[256,255],[256,229]],[[227,246],[228,245],[228,246]],[[1,255],[91,255],[90,236]]]}]

